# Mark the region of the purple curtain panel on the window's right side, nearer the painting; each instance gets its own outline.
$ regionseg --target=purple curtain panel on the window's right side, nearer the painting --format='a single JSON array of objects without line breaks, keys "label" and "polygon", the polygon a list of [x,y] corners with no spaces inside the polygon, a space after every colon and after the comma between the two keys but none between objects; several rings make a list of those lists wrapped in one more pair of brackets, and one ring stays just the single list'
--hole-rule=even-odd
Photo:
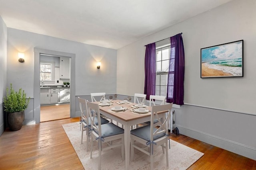
[{"label": "purple curtain panel on the window's right side, nearer the painting", "polygon": [[183,105],[185,55],[182,33],[174,35],[170,39],[171,51],[166,102]]}]

